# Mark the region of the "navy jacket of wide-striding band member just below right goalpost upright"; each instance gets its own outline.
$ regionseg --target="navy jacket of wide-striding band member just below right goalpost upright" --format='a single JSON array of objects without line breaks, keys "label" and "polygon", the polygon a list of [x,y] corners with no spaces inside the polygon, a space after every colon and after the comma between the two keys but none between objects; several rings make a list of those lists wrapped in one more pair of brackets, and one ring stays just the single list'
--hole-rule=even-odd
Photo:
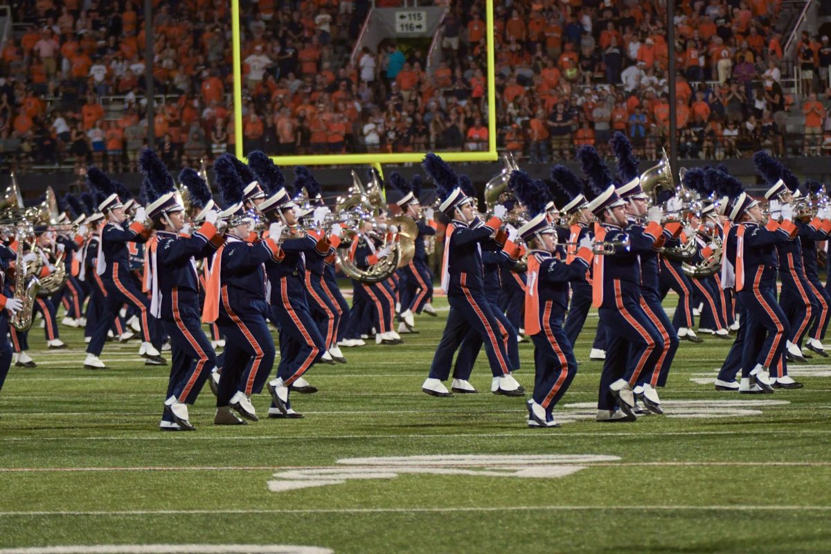
[{"label": "navy jacket of wide-striding band member just below right goalpost upright", "polygon": [[499,218],[491,218],[488,223],[478,228],[470,228],[458,219],[454,219],[450,224],[453,225],[453,233],[450,234],[445,247],[447,272],[450,277],[447,294],[464,296],[463,287],[474,292],[484,292],[481,244],[499,230]]}]

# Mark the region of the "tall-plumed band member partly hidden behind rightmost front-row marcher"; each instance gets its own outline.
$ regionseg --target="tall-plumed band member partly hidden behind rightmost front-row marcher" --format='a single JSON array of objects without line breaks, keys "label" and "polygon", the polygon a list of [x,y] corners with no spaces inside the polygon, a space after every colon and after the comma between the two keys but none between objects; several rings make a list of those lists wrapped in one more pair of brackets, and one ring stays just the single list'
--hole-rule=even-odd
[{"label": "tall-plumed band member partly hidden behind rightmost front-row marcher", "polygon": [[[780,206],[788,204],[793,208],[794,193],[798,191],[799,179],[763,150],[753,154],[753,162],[770,187],[765,191],[765,199],[770,204],[770,217],[779,219]],[[790,220],[794,222],[795,218]],[[796,238],[776,245],[776,251],[779,253],[779,278],[782,281],[779,306],[788,318],[790,328],[788,341],[785,343],[785,357],[789,361],[805,361],[799,346],[809,330],[812,317],[819,311],[819,302],[811,292],[810,284],[805,277],[801,238],[814,236],[814,231],[807,226],[800,227],[796,223],[794,225],[797,228]],[[774,384],[776,382],[774,380]]]}]

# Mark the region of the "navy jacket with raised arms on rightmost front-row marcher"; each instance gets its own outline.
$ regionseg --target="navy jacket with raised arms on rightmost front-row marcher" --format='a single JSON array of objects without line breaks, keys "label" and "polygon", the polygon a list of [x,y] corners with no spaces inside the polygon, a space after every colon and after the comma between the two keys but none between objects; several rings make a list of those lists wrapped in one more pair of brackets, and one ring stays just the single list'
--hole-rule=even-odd
[{"label": "navy jacket with raised arms on rightmost front-row marcher", "polygon": [[[739,228],[742,234],[742,259],[738,260]],[[779,267],[779,256],[776,253],[778,244],[788,243],[796,236],[796,227],[789,221],[769,223],[761,227],[758,223],[745,221],[730,228],[725,245],[727,259],[733,262],[736,272],[736,290],[744,287],[750,289],[758,277],[761,281],[776,282],[776,270]],[[741,267],[739,264],[741,263]],[[743,273],[743,281],[739,282],[739,272]]]}]

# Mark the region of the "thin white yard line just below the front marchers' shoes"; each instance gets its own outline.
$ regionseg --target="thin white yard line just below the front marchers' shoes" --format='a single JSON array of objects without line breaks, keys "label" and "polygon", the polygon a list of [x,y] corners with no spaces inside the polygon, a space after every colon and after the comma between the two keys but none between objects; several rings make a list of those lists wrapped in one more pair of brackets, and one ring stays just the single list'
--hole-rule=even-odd
[{"label": "thin white yard line just below the front marchers' shoes", "polygon": [[[718,435],[760,435],[760,434],[787,434],[789,436],[796,436],[796,435],[816,435],[816,434],[831,434],[831,429],[782,429],[782,430],[769,430],[769,431],[760,431],[760,430],[753,430],[752,433],[748,429],[739,429],[735,431],[650,431],[648,436],[656,437],[656,436],[718,436]],[[165,433],[165,434],[152,434],[152,435],[142,435],[137,437],[39,437],[39,436],[32,436],[32,437],[0,437],[0,442],[25,442],[25,441],[92,441],[92,440],[113,440],[113,441],[127,441],[127,440],[169,440],[169,441],[182,441],[182,440],[302,440],[302,441],[309,441],[309,440],[337,440],[337,439],[460,439],[460,438],[494,438],[494,437],[523,437],[523,438],[534,438],[534,439],[568,439],[571,437],[644,437],[646,436],[643,433],[568,433],[568,432],[561,432],[561,433],[540,433],[536,430],[529,430],[517,433],[450,433],[450,434],[327,434],[327,435],[313,435],[313,434],[305,434],[305,435],[286,435],[286,434],[273,434],[273,435],[243,435],[243,436],[219,436],[219,437],[212,437],[208,435],[200,435],[194,433],[186,433],[186,434],[179,434],[179,433]]]}]

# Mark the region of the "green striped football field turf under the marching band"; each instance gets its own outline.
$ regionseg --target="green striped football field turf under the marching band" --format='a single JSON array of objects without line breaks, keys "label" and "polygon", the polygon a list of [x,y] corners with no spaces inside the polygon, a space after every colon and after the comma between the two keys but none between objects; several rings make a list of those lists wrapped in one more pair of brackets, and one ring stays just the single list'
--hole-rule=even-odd
[{"label": "green striped football field turf under the marching band", "polygon": [[420,392],[445,314],[313,367],[320,392],[293,395],[305,419],[214,427],[206,386],[194,433],[158,430],[167,369],[137,343],[84,370],[62,327],[72,348],[32,351],[0,395],[0,553],[831,550],[831,359],[791,366],[804,390],[745,396],[711,384],[729,341],[683,342],[666,415],[597,424],[590,316],[563,426],[528,429],[523,399],[487,392],[484,353],[482,394]]}]

